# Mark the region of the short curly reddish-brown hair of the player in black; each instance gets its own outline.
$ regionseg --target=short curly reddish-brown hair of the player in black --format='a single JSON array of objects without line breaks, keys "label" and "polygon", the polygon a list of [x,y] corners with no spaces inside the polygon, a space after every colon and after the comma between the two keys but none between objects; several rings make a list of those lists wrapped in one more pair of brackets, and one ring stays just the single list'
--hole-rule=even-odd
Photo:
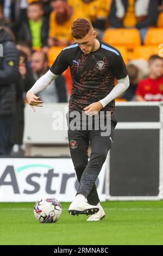
[{"label": "short curly reddish-brown hair of the player in black", "polygon": [[92,23],[89,20],[79,18],[73,22],[71,34],[73,38],[82,39],[92,28]]}]

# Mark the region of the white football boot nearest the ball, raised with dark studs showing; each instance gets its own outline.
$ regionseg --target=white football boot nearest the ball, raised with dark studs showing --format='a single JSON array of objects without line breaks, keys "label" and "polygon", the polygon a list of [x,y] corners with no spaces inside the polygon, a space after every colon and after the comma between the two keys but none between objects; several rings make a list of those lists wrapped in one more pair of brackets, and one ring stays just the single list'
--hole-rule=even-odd
[{"label": "white football boot nearest the ball, raised with dark studs showing", "polygon": [[99,208],[95,205],[90,205],[87,203],[86,198],[80,200],[79,202],[72,202],[68,208],[69,214],[72,216],[85,214],[85,215],[95,215],[99,211]]}]

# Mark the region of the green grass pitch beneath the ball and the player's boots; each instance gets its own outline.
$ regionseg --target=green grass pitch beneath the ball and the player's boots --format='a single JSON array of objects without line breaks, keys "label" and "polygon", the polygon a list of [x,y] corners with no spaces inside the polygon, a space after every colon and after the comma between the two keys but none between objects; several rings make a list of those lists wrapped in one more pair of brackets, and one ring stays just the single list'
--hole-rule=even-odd
[{"label": "green grass pitch beneath the ball and the player's boots", "polygon": [[105,202],[105,220],[72,217],[39,223],[34,203],[0,203],[0,245],[163,245],[163,202]]}]

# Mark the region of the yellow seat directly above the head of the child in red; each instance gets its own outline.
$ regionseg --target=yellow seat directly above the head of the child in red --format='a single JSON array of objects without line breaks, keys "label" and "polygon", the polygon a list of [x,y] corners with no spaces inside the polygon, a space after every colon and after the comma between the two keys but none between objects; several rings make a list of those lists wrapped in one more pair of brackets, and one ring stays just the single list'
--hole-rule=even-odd
[{"label": "yellow seat directly above the head of the child in red", "polygon": [[134,49],[132,58],[148,60],[151,55],[158,55],[159,50],[158,46],[139,46]]}]

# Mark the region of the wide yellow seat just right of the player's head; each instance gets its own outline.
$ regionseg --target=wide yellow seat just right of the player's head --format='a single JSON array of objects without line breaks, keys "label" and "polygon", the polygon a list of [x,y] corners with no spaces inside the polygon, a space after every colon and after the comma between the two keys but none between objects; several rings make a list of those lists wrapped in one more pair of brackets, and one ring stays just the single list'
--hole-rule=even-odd
[{"label": "wide yellow seat just right of the player's head", "polygon": [[135,46],[141,45],[140,34],[137,29],[106,29],[103,41],[113,46],[126,46],[127,48],[134,48]]}]

